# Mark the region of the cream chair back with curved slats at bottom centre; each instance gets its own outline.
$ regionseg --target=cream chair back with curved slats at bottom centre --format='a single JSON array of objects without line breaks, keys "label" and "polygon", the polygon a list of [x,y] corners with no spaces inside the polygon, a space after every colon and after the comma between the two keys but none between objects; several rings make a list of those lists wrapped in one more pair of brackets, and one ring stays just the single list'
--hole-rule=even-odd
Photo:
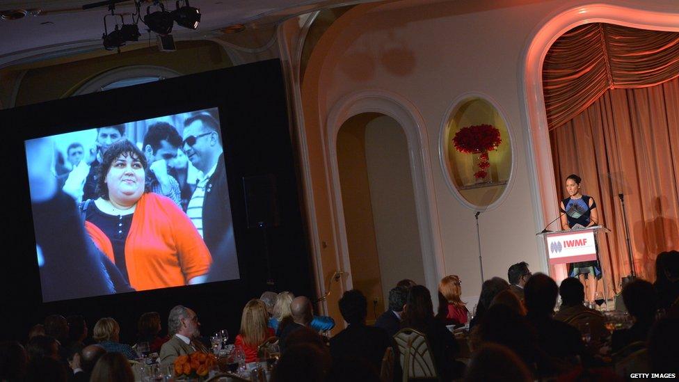
[{"label": "cream chair back with curved slats at bottom centre", "polygon": [[426,335],[412,328],[403,328],[394,335],[399,346],[403,381],[412,379],[438,379],[431,347]]}]

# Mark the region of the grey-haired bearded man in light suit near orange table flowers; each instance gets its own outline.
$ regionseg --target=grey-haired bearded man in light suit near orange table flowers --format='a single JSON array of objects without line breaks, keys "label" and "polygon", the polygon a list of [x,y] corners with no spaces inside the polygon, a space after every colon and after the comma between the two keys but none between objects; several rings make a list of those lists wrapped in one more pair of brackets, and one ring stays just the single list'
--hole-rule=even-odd
[{"label": "grey-haired bearded man in light suit near orange table flowers", "polygon": [[170,310],[168,317],[168,335],[170,340],[160,348],[161,365],[169,365],[175,362],[177,357],[185,356],[202,351],[208,353],[198,336],[200,335],[200,322],[198,315],[193,310],[182,305],[177,305]]}]

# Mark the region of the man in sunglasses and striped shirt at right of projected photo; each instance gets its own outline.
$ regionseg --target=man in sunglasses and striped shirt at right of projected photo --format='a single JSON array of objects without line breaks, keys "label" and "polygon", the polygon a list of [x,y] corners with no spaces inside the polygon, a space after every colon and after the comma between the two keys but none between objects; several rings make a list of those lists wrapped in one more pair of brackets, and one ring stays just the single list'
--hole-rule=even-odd
[{"label": "man in sunglasses and striped shirt at right of projected photo", "polygon": [[219,123],[208,113],[184,121],[182,150],[202,172],[186,214],[205,240],[214,263],[208,280],[239,277]]}]

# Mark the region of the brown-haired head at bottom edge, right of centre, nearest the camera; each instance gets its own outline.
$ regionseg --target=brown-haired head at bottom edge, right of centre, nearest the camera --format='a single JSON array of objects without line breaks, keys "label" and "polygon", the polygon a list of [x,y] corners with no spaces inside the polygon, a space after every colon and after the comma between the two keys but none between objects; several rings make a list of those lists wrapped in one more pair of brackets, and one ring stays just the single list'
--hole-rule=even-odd
[{"label": "brown-haired head at bottom edge, right of centre, nearest the camera", "polygon": [[511,349],[501,344],[485,344],[474,353],[467,367],[465,382],[530,382],[531,372]]}]

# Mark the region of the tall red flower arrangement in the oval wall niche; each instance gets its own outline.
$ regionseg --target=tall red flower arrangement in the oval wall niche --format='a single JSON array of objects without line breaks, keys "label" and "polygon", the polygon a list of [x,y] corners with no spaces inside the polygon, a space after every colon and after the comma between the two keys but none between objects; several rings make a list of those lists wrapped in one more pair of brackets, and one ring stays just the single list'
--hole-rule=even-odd
[{"label": "tall red flower arrangement in the oval wall niche", "polygon": [[487,169],[490,167],[488,152],[497,149],[502,143],[500,130],[493,125],[473,125],[463,127],[453,138],[455,149],[465,154],[481,154],[479,159],[479,170],[474,173],[477,179],[484,179],[488,176]]}]

